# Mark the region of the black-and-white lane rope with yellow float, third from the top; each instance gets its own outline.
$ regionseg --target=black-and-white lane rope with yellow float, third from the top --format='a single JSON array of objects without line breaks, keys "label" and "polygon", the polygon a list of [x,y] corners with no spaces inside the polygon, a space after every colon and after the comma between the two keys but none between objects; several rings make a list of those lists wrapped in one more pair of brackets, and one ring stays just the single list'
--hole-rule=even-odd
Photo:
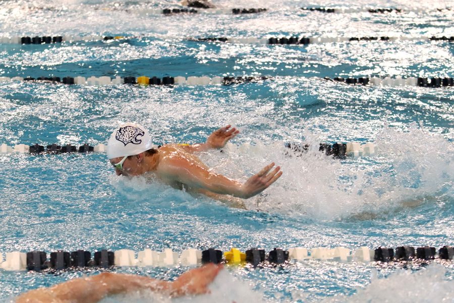
[{"label": "black-and-white lane rope with yellow float, third from the top", "polygon": [[[119,84],[139,84],[142,86],[154,86],[154,85],[188,85],[188,86],[198,86],[198,85],[232,85],[240,83],[251,83],[259,82],[263,80],[276,79],[278,77],[266,77],[266,76],[240,76],[240,77],[208,77],[208,76],[190,76],[190,77],[120,77],[110,78],[108,76],[102,77],[0,77],[0,83],[2,82],[46,82],[46,83],[63,83],[63,84],[77,84],[77,85],[87,85],[87,86],[103,86],[103,85],[119,85]],[[359,78],[343,78],[335,77],[333,79],[329,77],[324,78],[327,81],[342,82],[351,85],[372,85],[372,86],[420,86],[420,87],[452,87],[454,86],[454,79],[450,77],[408,77],[408,78],[391,78],[391,77],[359,77]]]}]

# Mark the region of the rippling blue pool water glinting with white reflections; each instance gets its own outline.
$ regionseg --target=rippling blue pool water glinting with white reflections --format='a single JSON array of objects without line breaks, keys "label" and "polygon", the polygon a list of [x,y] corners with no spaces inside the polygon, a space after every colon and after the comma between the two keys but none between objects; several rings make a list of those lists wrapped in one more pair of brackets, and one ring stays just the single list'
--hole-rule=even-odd
[{"label": "rippling blue pool water glinting with white reflections", "polygon": [[[238,7],[235,2],[216,4]],[[454,44],[251,45],[189,39],[454,36],[453,11],[436,11],[449,2],[438,2],[437,7],[427,4],[420,12],[405,12],[415,8],[406,1],[357,4],[403,9],[388,14],[299,9],[304,6],[317,4],[253,1],[245,7],[269,10],[163,16],[146,12],[176,6],[6,2],[0,10],[4,36],[135,38],[3,43],[0,76],[263,75],[272,79],[230,86],[0,83],[0,143],[96,145],[107,141],[118,121],[144,125],[156,144],[195,143],[232,123],[241,135],[223,153],[202,154],[201,159],[217,172],[241,180],[270,161],[281,165],[284,175],[264,195],[247,200],[244,211],[154,181],[113,176],[104,154],[0,155],[0,252],[453,245],[453,88],[351,86],[323,78],[454,77]],[[332,7],[353,6],[337,1]],[[303,141],[312,146],[370,141],[379,153],[342,161],[320,153],[285,155],[286,142]],[[314,302],[335,296],[339,301],[366,301],[405,299],[409,293],[420,300],[454,298],[452,262],[412,263],[405,271],[401,267],[315,260],[282,268],[229,267],[205,299]],[[186,269],[115,270],[173,278]],[[50,275],[1,270],[1,299],[95,272]],[[142,296],[129,299],[147,301]]]}]

